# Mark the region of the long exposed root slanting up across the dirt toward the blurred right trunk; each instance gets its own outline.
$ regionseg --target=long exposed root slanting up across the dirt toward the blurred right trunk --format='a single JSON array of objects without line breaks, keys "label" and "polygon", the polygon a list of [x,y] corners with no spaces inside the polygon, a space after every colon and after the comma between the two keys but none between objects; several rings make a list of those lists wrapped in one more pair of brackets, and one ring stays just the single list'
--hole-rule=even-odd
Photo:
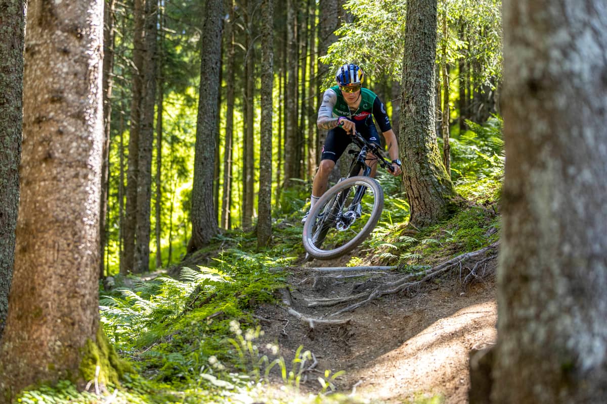
[{"label": "long exposed root slanting up across the dirt toward the blurred right trunk", "polygon": [[[486,269],[486,263],[489,260],[497,257],[498,245],[499,245],[499,242],[495,242],[492,245],[489,245],[489,247],[485,247],[481,250],[473,251],[471,253],[461,254],[446,262],[440,263],[439,265],[436,265],[435,267],[430,268],[429,270],[420,271],[415,274],[410,274],[410,275],[402,277],[401,279],[396,280],[395,282],[390,282],[390,283],[385,283],[384,285],[380,285],[370,292],[359,293],[359,294],[355,294],[353,296],[342,297],[342,298],[317,300],[317,302],[310,303],[310,305],[311,306],[330,306],[330,305],[337,305],[339,303],[351,302],[351,301],[358,300],[358,299],[364,299],[364,300],[361,300],[360,302],[353,303],[345,308],[342,308],[341,310],[336,311],[335,313],[330,314],[330,316],[337,316],[338,314],[342,314],[347,311],[352,311],[359,307],[367,305],[369,302],[371,302],[371,300],[378,299],[379,297],[385,296],[387,294],[399,293],[412,286],[417,286],[421,283],[427,282],[428,280],[433,279],[436,276],[439,276],[440,274],[443,274],[449,270],[452,270],[452,268],[459,266],[460,271],[461,271],[464,261],[490,253],[490,256],[484,257],[484,259],[480,260],[479,262],[477,262],[475,264],[475,266],[472,268],[472,270],[470,270],[470,273],[466,276],[466,279],[468,279],[470,276],[479,277],[479,275],[476,273],[476,271],[481,267],[481,265],[484,265],[484,268]],[[421,277],[421,279],[419,279],[419,277]],[[464,279],[464,281],[466,279]]]}]

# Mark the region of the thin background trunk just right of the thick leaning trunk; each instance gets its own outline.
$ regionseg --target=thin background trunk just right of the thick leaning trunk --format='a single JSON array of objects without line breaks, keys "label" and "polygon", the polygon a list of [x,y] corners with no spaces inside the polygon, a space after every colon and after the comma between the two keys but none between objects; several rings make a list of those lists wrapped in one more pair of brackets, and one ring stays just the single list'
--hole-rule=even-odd
[{"label": "thin background trunk just right of the thick leaning trunk", "polygon": [[223,150],[223,198],[222,198],[222,227],[231,227],[231,205],[232,205],[232,136],[234,134],[234,57],[236,41],[234,39],[234,25],[236,11],[234,0],[228,1],[229,21],[226,23],[226,39],[228,41],[228,66],[226,82],[226,133],[225,146]]}]

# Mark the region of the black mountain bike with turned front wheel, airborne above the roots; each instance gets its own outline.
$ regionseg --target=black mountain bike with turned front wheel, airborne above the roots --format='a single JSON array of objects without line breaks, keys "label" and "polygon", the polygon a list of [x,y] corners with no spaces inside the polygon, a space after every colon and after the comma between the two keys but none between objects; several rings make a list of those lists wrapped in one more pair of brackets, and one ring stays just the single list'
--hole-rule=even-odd
[{"label": "black mountain bike with turned front wheel, airborne above the roots", "polygon": [[333,259],[358,247],[378,224],[384,209],[384,191],[370,176],[367,154],[375,154],[379,165],[390,171],[394,170],[392,162],[360,133],[352,137],[360,151],[348,151],[353,155],[348,175],[325,192],[308,213],[303,234],[307,260]]}]

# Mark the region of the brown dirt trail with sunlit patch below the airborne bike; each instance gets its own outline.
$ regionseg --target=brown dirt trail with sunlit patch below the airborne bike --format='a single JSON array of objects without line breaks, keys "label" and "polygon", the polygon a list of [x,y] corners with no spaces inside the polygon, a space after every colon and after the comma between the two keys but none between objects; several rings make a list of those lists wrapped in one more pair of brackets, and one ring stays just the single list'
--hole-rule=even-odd
[{"label": "brown dirt trail with sunlit patch below the airborne bike", "polygon": [[[342,267],[349,257],[313,261],[306,267]],[[262,306],[265,340],[277,341],[285,358],[300,345],[317,358],[316,369],[345,370],[337,383],[344,392],[356,391],[366,399],[387,403],[409,402],[441,394],[445,403],[467,403],[470,349],[495,341],[495,260],[487,263],[486,276],[463,283],[463,273],[450,271],[413,289],[390,294],[357,308],[331,316],[336,306],[308,306],[322,298],[351,296],[400,279],[397,271],[318,273],[293,268],[288,277],[291,307],[316,319],[350,319],[345,325],[316,325],[310,329],[277,306]],[[467,265],[462,271],[466,271]],[[322,278],[322,279],[321,279]],[[317,389],[316,377],[310,377]],[[313,386],[312,386],[313,385]]]}]

